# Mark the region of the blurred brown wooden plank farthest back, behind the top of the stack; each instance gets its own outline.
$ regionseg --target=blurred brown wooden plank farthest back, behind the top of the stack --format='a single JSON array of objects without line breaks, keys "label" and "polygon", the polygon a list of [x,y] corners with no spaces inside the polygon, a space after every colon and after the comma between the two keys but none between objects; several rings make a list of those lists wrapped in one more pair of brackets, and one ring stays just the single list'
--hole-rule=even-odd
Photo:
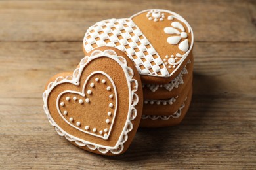
[{"label": "blurred brown wooden plank farthest back, behind the top of the stack", "polygon": [[184,16],[196,41],[255,42],[248,6],[256,7],[244,1],[1,1],[0,41],[82,41],[86,29],[97,21],[159,8]]}]

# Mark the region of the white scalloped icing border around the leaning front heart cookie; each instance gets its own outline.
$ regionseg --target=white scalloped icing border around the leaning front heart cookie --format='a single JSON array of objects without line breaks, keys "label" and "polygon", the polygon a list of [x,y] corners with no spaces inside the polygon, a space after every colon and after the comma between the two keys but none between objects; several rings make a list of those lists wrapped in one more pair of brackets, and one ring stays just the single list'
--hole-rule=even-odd
[{"label": "white scalloped icing border around the leaning front heart cookie", "polygon": [[[125,122],[125,126],[123,127],[123,131],[116,143],[116,146],[114,147],[102,146],[100,144],[91,143],[89,141],[85,141],[83,139],[79,139],[77,137],[74,137],[73,135],[70,135],[69,133],[64,131],[62,128],[60,128],[58,124],[56,124],[56,122],[54,122],[48,109],[47,101],[48,101],[49,93],[51,93],[51,90],[53,90],[55,86],[58,86],[59,84],[66,83],[66,82],[72,83],[76,86],[79,85],[80,76],[84,67],[93,59],[100,58],[100,57],[108,57],[108,58],[114,59],[114,61],[119,63],[119,65],[123,69],[123,72],[125,73],[127,86],[129,88],[129,110],[127,114],[127,120]],[[79,63],[79,67],[77,67],[77,69],[75,69],[73,72],[73,76],[66,76],[65,78],[62,76],[59,76],[58,78],[56,78],[54,82],[50,82],[47,86],[47,90],[43,92],[43,103],[44,103],[43,109],[45,110],[45,114],[47,115],[47,118],[50,124],[53,127],[55,127],[55,130],[57,131],[58,135],[64,136],[66,139],[68,139],[68,141],[75,142],[78,146],[87,146],[87,148],[89,148],[90,150],[98,150],[102,154],[106,154],[107,152],[111,152],[112,154],[121,153],[124,148],[123,144],[128,139],[128,133],[133,129],[133,123],[131,121],[135,120],[135,118],[137,117],[137,109],[135,108],[135,106],[139,102],[139,97],[135,92],[137,92],[138,90],[138,82],[137,80],[133,79],[133,75],[134,75],[133,69],[127,66],[126,59],[123,58],[122,56],[117,56],[114,50],[104,50],[104,52],[100,50],[95,50],[91,54],[91,56],[85,56],[85,58],[81,59],[81,62]],[[134,83],[135,86],[133,86],[133,89],[131,90],[132,83]]]}]

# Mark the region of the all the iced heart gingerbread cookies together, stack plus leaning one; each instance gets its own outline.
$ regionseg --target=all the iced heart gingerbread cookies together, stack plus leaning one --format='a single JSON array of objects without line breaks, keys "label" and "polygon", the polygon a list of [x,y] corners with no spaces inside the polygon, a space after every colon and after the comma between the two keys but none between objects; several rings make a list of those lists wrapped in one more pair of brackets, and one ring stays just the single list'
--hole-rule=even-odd
[{"label": "all the iced heart gingerbread cookies together, stack plus leaning one", "polygon": [[193,32],[168,10],[97,22],[72,73],[53,76],[43,108],[57,133],[75,146],[122,154],[140,127],[179,124],[192,96]]}]

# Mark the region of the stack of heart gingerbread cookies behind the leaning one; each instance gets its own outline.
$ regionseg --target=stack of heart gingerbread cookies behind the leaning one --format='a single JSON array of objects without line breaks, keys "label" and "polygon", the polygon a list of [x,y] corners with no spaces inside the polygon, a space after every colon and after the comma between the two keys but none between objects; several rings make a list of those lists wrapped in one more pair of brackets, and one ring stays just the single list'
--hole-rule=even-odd
[{"label": "stack of heart gingerbread cookies behind the leaning one", "polygon": [[179,124],[192,95],[193,33],[184,18],[168,10],[144,10],[125,19],[111,19],[87,29],[85,54],[114,47],[135,64],[143,83],[141,127]]}]

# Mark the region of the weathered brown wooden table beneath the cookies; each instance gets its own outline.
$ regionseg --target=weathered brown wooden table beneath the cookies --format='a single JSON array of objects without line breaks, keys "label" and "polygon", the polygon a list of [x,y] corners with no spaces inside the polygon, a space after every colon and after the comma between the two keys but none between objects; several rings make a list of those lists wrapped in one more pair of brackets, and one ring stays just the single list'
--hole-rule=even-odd
[{"label": "weathered brown wooden table beneath the cookies", "polygon": [[[144,9],[194,29],[194,95],[182,124],[139,129],[114,157],[57,135],[43,112],[48,78],[83,57],[86,29]],[[1,1],[0,169],[256,169],[255,1]]]}]

